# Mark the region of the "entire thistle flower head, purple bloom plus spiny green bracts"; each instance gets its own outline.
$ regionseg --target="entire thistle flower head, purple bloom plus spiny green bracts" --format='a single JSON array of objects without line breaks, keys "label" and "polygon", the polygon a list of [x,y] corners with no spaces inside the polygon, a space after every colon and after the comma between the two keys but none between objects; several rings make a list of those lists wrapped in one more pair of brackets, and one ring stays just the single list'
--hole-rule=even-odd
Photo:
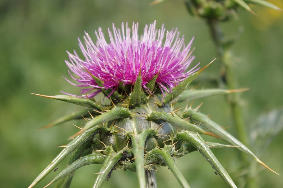
[{"label": "entire thistle flower head, purple bloom plus spiny green bracts", "polygon": [[[184,45],[184,37],[179,38],[177,29],[167,31],[165,37],[165,28],[156,30],[155,22],[146,26],[139,37],[137,26],[133,24],[132,35],[127,24],[126,31],[123,24],[122,30],[113,26],[114,37],[108,29],[109,44],[101,29],[95,32],[96,44],[86,33],[86,47],[79,42],[84,60],[76,52],[68,53],[70,62],[66,63],[74,73],[69,72],[70,76],[80,84],[67,81],[87,88],[81,89],[83,95],[45,97],[86,109],[64,116],[49,126],[82,118],[87,123],[29,187],[35,186],[68,155],[71,155],[68,166],[48,185],[63,178],[64,187],[69,187],[76,169],[102,164],[94,187],[101,187],[114,169],[137,172],[140,188],[156,187],[155,171],[160,166],[168,166],[181,186],[189,187],[174,160],[199,151],[230,187],[236,187],[211,152],[213,148],[232,146],[264,165],[248,148],[197,109],[174,109],[177,97],[193,100],[234,92],[221,89],[184,91],[208,66],[199,70],[197,64],[186,72],[193,60],[192,41]],[[94,100],[100,92],[109,98],[109,103],[103,105]],[[223,139],[231,145],[206,142],[200,134]]]}]

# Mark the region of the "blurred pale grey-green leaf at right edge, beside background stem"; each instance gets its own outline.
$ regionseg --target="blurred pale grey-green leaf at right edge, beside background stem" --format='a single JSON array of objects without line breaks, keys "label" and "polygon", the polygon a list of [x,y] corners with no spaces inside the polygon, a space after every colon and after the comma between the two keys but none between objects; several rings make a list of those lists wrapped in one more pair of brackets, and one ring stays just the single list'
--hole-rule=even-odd
[{"label": "blurred pale grey-green leaf at right edge, beside background stem", "polygon": [[251,145],[262,154],[283,129],[283,107],[260,115],[251,126]]}]

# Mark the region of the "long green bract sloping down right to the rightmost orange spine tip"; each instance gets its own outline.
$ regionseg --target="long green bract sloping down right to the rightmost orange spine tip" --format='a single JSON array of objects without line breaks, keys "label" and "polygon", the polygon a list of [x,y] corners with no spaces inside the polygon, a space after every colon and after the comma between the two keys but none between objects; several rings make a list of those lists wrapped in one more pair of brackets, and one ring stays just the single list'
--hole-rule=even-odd
[{"label": "long green bract sloping down right to the rightmost orange spine tip", "polygon": [[[183,114],[183,118],[188,118],[193,123],[197,123],[205,129],[206,131],[209,131],[213,134],[218,135],[221,139],[224,139],[230,144],[233,144],[237,147],[240,151],[247,154],[249,157],[252,157],[254,160],[256,160],[258,163],[269,169],[270,171],[278,174],[277,172],[271,170],[269,167],[267,167],[263,162],[261,162],[255,154],[251,150],[249,150],[243,143],[241,143],[239,140],[237,140],[235,137],[233,137],[231,134],[229,134],[227,131],[222,129],[222,127],[218,124],[216,124],[214,121],[210,120],[205,114],[202,114],[198,112],[197,110],[189,109]],[[279,174],[278,174],[279,175]]]}]

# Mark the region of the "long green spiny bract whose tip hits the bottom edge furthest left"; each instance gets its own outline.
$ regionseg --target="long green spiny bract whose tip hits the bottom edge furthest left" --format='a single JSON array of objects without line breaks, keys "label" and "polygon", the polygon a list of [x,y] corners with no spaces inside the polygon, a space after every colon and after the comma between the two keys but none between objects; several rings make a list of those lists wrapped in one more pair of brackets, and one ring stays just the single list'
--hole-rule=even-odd
[{"label": "long green spiny bract whose tip hits the bottom edge furthest left", "polygon": [[80,147],[82,144],[86,143],[88,140],[92,140],[94,133],[108,130],[102,126],[96,126],[92,129],[88,129],[83,134],[78,136],[72,142],[70,142],[58,155],[53,159],[53,161],[35,178],[35,180],[30,184],[28,188],[35,186],[39,181],[41,181],[49,172],[51,172],[58,164],[66,158],[70,153],[72,153],[76,148]]}]

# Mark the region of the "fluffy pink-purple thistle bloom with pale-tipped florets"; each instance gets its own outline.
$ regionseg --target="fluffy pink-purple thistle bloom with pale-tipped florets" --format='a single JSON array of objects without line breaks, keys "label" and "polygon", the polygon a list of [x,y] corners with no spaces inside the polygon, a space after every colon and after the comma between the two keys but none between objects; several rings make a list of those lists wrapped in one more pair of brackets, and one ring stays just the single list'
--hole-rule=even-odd
[{"label": "fluffy pink-purple thistle bloom with pale-tipped florets", "polygon": [[[85,45],[79,39],[79,46],[85,59],[80,59],[74,51],[74,54],[67,52],[70,62],[65,61],[67,67],[76,75],[73,76],[69,71],[70,76],[81,84],[74,84],[65,79],[74,86],[88,87],[81,89],[81,93],[85,94],[78,97],[92,98],[101,92],[100,88],[112,89],[114,92],[120,83],[134,84],[140,72],[141,85],[144,89],[148,90],[146,84],[158,75],[156,84],[161,92],[170,93],[179,82],[198,70],[196,67],[199,63],[185,72],[194,59],[190,53],[193,39],[185,45],[184,36],[179,38],[177,28],[165,34],[164,26],[157,30],[154,22],[149,27],[145,26],[141,37],[137,32],[138,23],[133,23],[132,36],[128,23],[126,23],[126,29],[122,23],[122,30],[116,29],[113,24],[113,34],[108,28],[109,44],[105,41],[100,28],[98,32],[95,31],[96,44],[85,32]],[[95,82],[91,74],[104,82],[103,87]]]}]

